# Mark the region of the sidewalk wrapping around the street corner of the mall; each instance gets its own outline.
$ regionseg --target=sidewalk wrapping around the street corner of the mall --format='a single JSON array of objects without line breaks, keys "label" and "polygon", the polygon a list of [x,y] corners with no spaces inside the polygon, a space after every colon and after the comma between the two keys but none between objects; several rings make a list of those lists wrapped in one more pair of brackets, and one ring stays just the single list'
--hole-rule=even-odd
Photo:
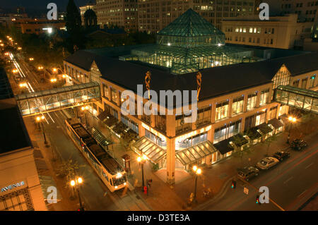
[{"label": "sidewalk wrapping around the street corner of the mall", "polygon": [[[98,128],[107,138],[110,138],[110,132],[98,118],[93,118],[91,114],[88,114],[88,123],[90,126]],[[304,138],[305,135],[317,135],[317,130],[314,128],[318,126],[318,118],[314,118],[313,121],[301,121],[298,126],[295,126],[291,130],[291,138]],[[310,128],[311,127],[311,128]],[[289,131],[289,130],[288,130]],[[272,142],[268,150],[268,154],[271,155],[278,150],[284,150],[289,147],[286,144],[288,132],[278,134],[276,142]],[[309,136],[306,136],[308,138]],[[306,139],[305,138],[305,139]],[[194,193],[194,175],[189,174],[186,171],[176,171],[176,183],[174,186],[169,186],[165,183],[165,169],[153,173],[151,163],[147,162],[144,166],[145,182],[146,179],[151,178],[151,188],[148,196],[141,191],[142,179],[141,168],[136,161],[138,155],[132,150],[126,149],[124,145],[119,141],[119,138],[112,134],[113,152],[114,157],[118,160],[122,160],[122,155],[129,154],[131,157],[131,175],[129,176],[129,183],[131,184],[131,190],[134,190],[139,197],[148,203],[153,210],[183,210],[186,209],[187,200],[189,195]],[[112,150],[112,147],[109,146]],[[196,204],[193,207],[211,200],[203,196],[204,190],[210,188],[212,190],[211,197],[217,197],[222,194],[223,186],[228,183],[232,178],[236,178],[237,168],[245,166],[253,166],[259,162],[260,159],[265,157],[267,151],[267,145],[259,143],[254,145],[245,151],[245,154],[239,157],[237,154],[232,154],[231,157],[224,159],[221,162],[206,166],[202,169],[201,176],[198,177],[196,187]]]}]

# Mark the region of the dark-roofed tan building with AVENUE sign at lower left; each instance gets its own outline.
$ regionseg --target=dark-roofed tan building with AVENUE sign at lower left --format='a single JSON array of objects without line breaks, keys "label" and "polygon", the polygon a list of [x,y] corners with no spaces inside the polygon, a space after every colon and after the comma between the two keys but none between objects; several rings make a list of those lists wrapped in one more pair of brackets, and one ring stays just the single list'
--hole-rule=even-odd
[{"label": "dark-roofed tan building with AVENUE sign at lower left", "polygon": [[47,210],[35,149],[0,68],[0,211]]}]

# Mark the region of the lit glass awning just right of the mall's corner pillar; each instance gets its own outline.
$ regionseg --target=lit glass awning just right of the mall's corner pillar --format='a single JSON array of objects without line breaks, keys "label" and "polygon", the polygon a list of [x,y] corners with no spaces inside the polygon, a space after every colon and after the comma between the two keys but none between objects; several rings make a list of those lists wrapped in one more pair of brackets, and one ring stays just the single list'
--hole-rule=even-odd
[{"label": "lit glass awning just right of the mall's corner pillar", "polygon": [[187,164],[192,164],[213,152],[216,152],[216,148],[207,140],[198,145],[176,152],[175,157],[185,166]]}]

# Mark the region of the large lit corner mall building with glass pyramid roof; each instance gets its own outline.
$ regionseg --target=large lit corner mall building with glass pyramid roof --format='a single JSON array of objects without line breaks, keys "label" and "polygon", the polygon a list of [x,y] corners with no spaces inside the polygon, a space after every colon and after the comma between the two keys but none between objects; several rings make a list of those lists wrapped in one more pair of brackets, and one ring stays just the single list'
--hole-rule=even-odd
[{"label": "large lit corner mall building with glass pyramid roof", "polygon": [[[279,116],[288,114],[288,107],[273,100],[276,87],[314,88],[318,54],[255,57],[253,49],[225,45],[223,32],[190,9],[158,32],[156,44],[76,51],[64,60],[64,70],[73,83],[100,84],[101,101],[92,113],[138,133],[131,149],[166,169],[167,182],[174,183],[176,169],[215,164],[281,132]],[[194,123],[184,123],[189,111],[177,114],[179,106],[173,115],[159,115],[158,105],[153,105],[158,115],[122,114],[122,92],[132,90],[135,99],[137,85],[146,92],[147,72],[158,95],[160,90],[197,90],[201,74],[197,109],[189,109],[197,110]],[[147,96],[137,99],[136,109]]]}]

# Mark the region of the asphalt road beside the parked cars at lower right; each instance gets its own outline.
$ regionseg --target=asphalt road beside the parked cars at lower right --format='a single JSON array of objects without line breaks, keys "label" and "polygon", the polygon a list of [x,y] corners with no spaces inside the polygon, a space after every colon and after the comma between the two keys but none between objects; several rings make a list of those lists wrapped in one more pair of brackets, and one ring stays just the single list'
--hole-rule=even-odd
[{"label": "asphalt road beside the parked cars at lower right", "polygon": [[[297,210],[318,190],[317,137],[308,140],[308,145],[302,152],[289,150],[289,159],[260,171],[259,176],[249,183],[238,180],[235,189],[227,186],[225,196],[206,205],[204,210]],[[269,188],[271,201],[258,205],[256,196],[261,186]],[[249,190],[248,195],[244,193],[244,187]]]}]

